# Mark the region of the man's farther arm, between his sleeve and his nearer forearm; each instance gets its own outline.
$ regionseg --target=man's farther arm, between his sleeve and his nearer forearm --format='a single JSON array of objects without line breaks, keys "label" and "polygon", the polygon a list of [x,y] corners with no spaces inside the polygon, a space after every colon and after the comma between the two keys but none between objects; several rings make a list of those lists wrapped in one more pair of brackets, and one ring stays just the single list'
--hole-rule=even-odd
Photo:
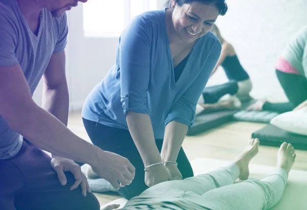
[{"label": "man's farther arm, between his sleeve and his nearer forearm", "polygon": [[64,51],[51,56],[43,81],[43,108],[67,126],[69,92],[65,75]]}]

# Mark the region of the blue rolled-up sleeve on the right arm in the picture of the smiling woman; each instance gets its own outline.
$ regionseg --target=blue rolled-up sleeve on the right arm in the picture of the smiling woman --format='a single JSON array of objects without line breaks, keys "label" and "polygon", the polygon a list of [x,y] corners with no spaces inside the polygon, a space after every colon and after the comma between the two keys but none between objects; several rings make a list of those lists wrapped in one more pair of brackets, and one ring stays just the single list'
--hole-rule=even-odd
[{"label": "blue rolled-up sleeve on the right arm in the picture of the smiling woman", "polygon": [[191,86],[184,92],[179,100],[171,107],[165,126],[171,121],[177,121],[189,126],[193,126],[195,120],[195,110],[198,100],[207,84],[209,76],[221,54],[221,44],[216,42],[210,56],[205,62],[200,74]]}]

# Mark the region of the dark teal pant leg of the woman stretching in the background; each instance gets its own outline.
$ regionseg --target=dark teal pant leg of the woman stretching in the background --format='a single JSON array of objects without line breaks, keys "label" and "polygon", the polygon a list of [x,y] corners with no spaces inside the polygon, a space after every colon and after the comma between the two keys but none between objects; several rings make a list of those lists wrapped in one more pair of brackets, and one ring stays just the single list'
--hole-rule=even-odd
[{"label": "dark teal pant leg of the woman stretching in the background", "polygon": [[238,91],[238,83],[234,80],[221,85],[205,87],[203,96],[206,104],[213,104],[226,94],[235,95]]}]

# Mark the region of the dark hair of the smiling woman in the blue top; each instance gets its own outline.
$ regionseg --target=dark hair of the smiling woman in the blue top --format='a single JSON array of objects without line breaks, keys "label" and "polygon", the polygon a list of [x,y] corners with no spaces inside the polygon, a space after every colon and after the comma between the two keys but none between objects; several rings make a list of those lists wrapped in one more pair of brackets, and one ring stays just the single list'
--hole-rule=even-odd
[{"label": "dark hair of the smiling woman in the blue top", "polygon": [[[228,10],[228,6],[225,0],[176,0],[176,5],[181,7],[183,4],[191,4],[193,2],[214,4],[215,7],[220,11],[220,15],[225,15]],[[165,7],[169,8],[170,6],[171,6],[171,0],[167,0],[165,3]]]}]

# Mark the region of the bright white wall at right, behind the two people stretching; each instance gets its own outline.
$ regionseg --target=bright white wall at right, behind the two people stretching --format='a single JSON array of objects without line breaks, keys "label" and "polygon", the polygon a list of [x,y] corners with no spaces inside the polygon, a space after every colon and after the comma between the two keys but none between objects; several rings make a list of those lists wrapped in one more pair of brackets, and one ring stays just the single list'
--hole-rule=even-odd
[{"label": "bright white wall at right, behind the two people stretching", "polygon": [[[252,96],[287,100],[275,76],[274,65],[293,34],[307,25],[306,0],[228,0],[229,11],[217,20],[226,40],[254,84]],[[209,82],[227,81],[222,69]]]}]

